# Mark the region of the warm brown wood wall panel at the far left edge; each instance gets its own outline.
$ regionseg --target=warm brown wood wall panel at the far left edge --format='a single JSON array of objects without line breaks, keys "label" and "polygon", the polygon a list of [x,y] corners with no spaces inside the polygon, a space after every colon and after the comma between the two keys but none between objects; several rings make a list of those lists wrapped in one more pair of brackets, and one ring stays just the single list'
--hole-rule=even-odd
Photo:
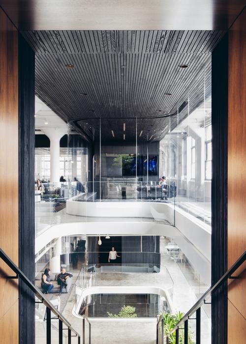
[{"label": "warm brown wood wall panel at the far left edge", "polygon": [[[18,264],[18,32],[0,9],[0,247]],[[18,283],[0,261],[0,343],[18,343]]]}]

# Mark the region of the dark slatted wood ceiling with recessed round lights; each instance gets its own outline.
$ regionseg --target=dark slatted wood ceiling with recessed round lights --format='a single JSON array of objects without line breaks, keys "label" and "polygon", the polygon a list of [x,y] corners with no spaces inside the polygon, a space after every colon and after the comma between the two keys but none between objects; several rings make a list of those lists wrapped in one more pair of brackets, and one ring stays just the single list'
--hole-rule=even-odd
[{"label": "dark slatted wood ceiling with recessed round lights", "polygon": [[[114,118],[146,117],[137,121],[138,135],[143,130],[141,140],[152,134],[152,140],[160,140],[165,134],[161,131],[170,118],[149,117],[177,113],[177,106],[184,105],[188,92],[192,95],[190,111],[201,103],[204,74],[199,71],[206,66],[206,88],[209,90],[211,52],[224,32],[22,33],[36,54],[36,94],[62,119],[87,118],[88,126],[92,126],[97,135],[98,118],[102,118],[105,139],[112,139],[111,130],[114,130],[115,137],[122,139],[123,122],[126,122],[126,137],[134,140],[135,120],[127,123],[127,120]],[[189,67],[179,68],[184,63]],[[67,64],[74,65],[74,68],[67,69]],[[164,93],[172,93],[172,96]],[[179,122],[186,115],[187,106],[179,114]],[[103,120],[105,118],[109,120]],[[78,121],[78,125],[86,127],[82,121]],[[171,128],[176,125],[175,115],[171,119]],[[93,128],[88,128],[91,137]]]}]

